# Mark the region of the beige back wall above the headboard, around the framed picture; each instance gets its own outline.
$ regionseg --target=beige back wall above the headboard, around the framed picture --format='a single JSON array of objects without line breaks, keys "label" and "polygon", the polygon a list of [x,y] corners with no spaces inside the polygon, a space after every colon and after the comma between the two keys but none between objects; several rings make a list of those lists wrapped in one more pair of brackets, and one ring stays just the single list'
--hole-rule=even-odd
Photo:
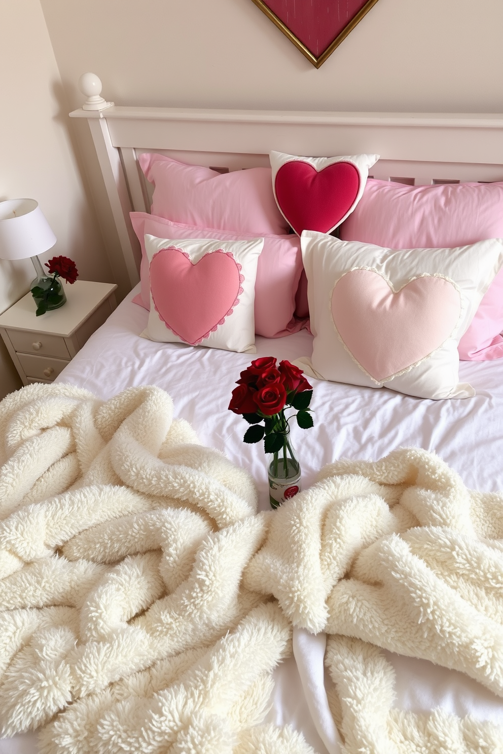
[{"label": "beige back wall above the headboard, around the framed picture", "polygon": [[503,111],[501,0],[379,0],[316,70],[251,0],[41,0],[63,84],[116,104]]}]

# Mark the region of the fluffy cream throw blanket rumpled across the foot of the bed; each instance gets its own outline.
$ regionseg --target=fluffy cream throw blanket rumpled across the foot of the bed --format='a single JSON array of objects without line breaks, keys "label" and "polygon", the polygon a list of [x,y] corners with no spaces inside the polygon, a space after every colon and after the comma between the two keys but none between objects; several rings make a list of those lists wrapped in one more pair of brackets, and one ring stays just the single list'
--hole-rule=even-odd
[{"label": "fluffy cream throw blanket rumpled across the foot of the bed", "polygon": [[436,456],[339,461],[271,513],[154,387],[0,403],[0,723],[44,754],[309,754],[263,725],[292,628],[328,636],[341,752],[496,754],[394,709],[382,648],[503,696],[503,496]]}]

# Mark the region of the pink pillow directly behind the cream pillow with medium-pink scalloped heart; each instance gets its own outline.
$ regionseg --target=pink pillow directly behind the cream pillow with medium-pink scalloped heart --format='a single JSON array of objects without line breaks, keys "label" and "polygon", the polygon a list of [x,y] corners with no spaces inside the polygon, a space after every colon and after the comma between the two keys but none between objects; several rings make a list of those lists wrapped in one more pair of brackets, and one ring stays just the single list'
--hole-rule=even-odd
[{"label": "pink pillow directly behind the cream pillow with medium-pink scalloped heart", "polygon": [[[131,212],[133,229],[142,247],[140,266],[141,293],[136,304],[150,308],[149,260],[145,250],[145,234],[175,241],[191,238],[214,238],[218,241],[247,241],[252,233],[227,233],[213,228],[194,228],[171,222],[146,212]],[[281,338],[296,333],[302,322],[294,319],[295,294],[302,272],[302,253],[296,235],[262,234],[264,247],[259,256],[255,280],[255,332],[265,338]]]}]

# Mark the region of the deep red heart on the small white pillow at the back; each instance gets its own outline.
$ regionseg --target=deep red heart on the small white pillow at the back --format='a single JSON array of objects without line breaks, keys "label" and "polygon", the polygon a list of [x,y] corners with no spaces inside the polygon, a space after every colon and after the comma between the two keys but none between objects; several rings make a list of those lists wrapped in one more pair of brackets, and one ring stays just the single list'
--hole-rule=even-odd
[{"label": "deep red heart on the small white pillow at the back", "polygon": [[297,234],[328,233],[351,209],[360,173],[351,162],[334,162],[318,173],[308,162],[292,160],[278,170],[275,192],[281,212]]}]

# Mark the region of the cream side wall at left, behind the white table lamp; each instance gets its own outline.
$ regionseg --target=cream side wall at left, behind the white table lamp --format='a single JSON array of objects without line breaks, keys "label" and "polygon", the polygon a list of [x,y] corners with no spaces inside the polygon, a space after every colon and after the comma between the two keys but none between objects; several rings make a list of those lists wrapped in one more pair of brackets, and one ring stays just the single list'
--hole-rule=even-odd
[{"label": "cream side wall at left, behind the white table lamp", "polygon": [[[83,279],[111,279],[70,141],[68,105],[38,0],[0,3],[0,71],[0,201],[38,201],[57,236],[42,261],[64,254],[75,260]],[[0,261],[0,311],[26,293],[34,274],[29,259]],[[1,342],[0,398],[20,385]]]}]

